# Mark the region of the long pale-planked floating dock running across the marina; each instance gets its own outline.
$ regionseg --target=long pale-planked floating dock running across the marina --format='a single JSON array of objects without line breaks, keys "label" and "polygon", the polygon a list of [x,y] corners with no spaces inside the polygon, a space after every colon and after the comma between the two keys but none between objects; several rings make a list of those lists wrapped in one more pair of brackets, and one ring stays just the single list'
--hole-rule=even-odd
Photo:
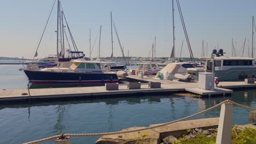
[{"label": "long pale-planked floating dock running across the marina", "polygon": [[[9,89],[0,90],[0,101],[27,100],[27,99],[54,99],[54,98],[100,98],[100,97],[125,97],[136,94],[164,94],[164,93],[182,93],[186,88],[195,88],[196,82],[162,83],[161,88],[149,88],[148,83],[141,83],[141,89],[128,89],[126,84],[120,84],[117,91],[106,91],[104,86],[99,87],[70,87],[70,88],[40,88],[30,89]],[[248,84],[239,82],[220,82],[221,88],[251,88],[256,87],[256,83]]]}]

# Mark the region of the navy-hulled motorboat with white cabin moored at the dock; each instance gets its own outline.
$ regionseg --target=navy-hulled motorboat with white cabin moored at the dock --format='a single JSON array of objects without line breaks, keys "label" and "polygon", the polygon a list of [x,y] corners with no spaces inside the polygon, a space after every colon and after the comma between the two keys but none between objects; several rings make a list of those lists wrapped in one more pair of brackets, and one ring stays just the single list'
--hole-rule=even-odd
[{"label": "navy-hulled motorboat with white cabin moored at the dock", "polygon": [[103,73],[101,62],[73,61],[69,68],[24,69],[33,83],[114,83],[117,74]]}]

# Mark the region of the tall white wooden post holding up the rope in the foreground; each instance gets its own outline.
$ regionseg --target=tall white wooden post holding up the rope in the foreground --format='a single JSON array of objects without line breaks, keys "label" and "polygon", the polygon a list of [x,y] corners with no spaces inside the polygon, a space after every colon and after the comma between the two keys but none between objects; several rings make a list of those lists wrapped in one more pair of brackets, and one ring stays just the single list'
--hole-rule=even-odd
[{"label": "tall white wooden post holding up the rope in the foreground", "polygon": [[232,139],[232,113],[233,104],[222,104],[219,116],[219,126],[217,132],[217,144],[229,144]]}]

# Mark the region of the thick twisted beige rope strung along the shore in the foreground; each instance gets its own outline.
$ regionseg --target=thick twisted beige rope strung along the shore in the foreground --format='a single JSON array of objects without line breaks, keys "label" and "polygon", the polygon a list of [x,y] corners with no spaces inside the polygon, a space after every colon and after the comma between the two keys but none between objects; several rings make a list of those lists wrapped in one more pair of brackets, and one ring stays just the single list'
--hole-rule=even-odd
[{"label": "thick twisted beige rope strung along the shore in the foreground", "polygon": [[24,143],[24,144],[34,144],[34,143],[49,141],[49,140],[53,140],[53,139],[56,139],[56,138],[62,137],[62,136],[103,136],[103,135],[126,134],[126,133],[133,133],[133,132],[136,132],[136,131],[143,131],[143,130],[148,130],[148,129],[159,128],[159,127],[163,127],[163,126],[168,125],[168,124],[172,124],[172,123],[176,123],[176,122],[181,122],[181,121],[184,121],[184,120],[189,119],[189,118],[191,118],[191,117],[195,117],[195,116],[201,115],[202,113],[211,111],[211,110],[215,109],[216,107],[218,107],[218,106],[220,106],[220,105],[222,105],[222,104],[224,104],[224,103],[230,103],[230,104],[234,104],[234,105],[237,105],[237,106],[246,108],[246,109],[256,110],[256,109],[253,108],[253,107],[244,106],[244,105],[235,103],[234,101],[231,101],[231,100],[225,100],[225,101],[222,101],[222,103],[219,103],[219,104],[217,104],[217,105],[214,105],[214,106],[210,107],[209,109],[203,110],[203,111],[201,111],[201,112],[195,113],[194,115],[191,115],[191,116],[188,116],[188,117],[184,117],[184,118],[180,118],[180,119],[177,119],[177,120],[172,121],[172,122],[157,124],[157,125],[152,126],[152,127],[141,128],[141,129],[135,129],[135,130],[127,130],[127,131],[116,131],[116,132],[110,132],[110,133],[96,133],[96,134],[63,134],[63,135],[56,135],[56,136],[47,137],[47,138],[45,138],[45,139],[41,139],[41,140],[37,140],[37,141],[27,142],[27,143]]}]

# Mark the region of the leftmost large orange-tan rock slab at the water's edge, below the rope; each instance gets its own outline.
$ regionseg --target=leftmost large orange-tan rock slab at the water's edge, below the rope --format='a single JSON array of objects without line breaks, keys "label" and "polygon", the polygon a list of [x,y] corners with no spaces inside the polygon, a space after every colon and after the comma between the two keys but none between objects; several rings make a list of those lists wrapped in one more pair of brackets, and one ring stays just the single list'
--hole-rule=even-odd
[{"label": "leftmost large orange-tan rock slab at the water's edge, below the rope", "polygon": [[[123,129],[121,131],[141,129],[145,127],[132,127]],[[138,133],[139,132],[139,133]],[[143,137],[144,135],[144,137]],[[160,134],[154,130],[143,130],[132,133],[117,134],[117,135],[105,135],[100,137],[96,144],[119,144],[119,143],[145,143],[145,144],[157,144],[160,143]]]}]

